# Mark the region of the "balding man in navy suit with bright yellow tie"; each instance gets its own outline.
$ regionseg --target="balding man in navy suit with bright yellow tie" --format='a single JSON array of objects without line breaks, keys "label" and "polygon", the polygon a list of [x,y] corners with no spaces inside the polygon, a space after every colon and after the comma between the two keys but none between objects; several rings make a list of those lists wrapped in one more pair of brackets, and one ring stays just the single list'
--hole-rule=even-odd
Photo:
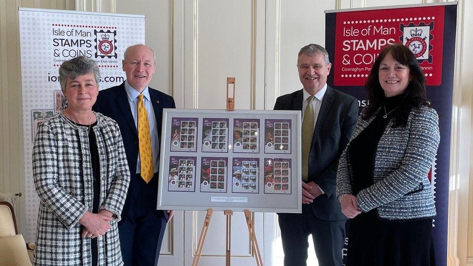
[{"label": "balding man in navy suit with bright yellow tie", "polygon": [[[173,217],[173,211],[156,210],[162,110],[175,108],[175,104],[173,97],[148,87],[156,70],[155,54],[149,47],[126,48],[122,68],[126,72],[125,82],[100,91],[93,109],[118,123],[131,172],[118,226],[123,261],[126,266],[156,266],[166,223]],[[154,173],[149,177],[145,177],[148,175],[145,171],[142,174],[140,154],[143,151],[139,147],[143,142],[140,143],[137,130],[139,104],[144,105],[147,115],[141,109],[142,118],[147,116],[149,124],[152,158],[149,154],[143,155],[149,162],[145,165],[150,165],[148,173],[151,170]]]}]

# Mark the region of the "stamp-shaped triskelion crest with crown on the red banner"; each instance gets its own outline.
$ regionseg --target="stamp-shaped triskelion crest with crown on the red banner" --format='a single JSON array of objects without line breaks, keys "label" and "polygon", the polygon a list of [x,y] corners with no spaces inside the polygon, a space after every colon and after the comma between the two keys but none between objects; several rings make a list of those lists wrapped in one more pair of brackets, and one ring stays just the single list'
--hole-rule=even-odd
[{"label": "stamp-shaped triskelion crest with crown on the red banner", "polygon": [[430,22],[429,25],[419,23],[417,26],[414,23],[410,23],[408,26],[401,24],[401,41],[405,46],[409,47],[417,60],[419,60],[419,63],[422,63],[424,60],[432,63],[432,56],[429,52],[432,50],[430,30],[433,28],[434,22]]}]

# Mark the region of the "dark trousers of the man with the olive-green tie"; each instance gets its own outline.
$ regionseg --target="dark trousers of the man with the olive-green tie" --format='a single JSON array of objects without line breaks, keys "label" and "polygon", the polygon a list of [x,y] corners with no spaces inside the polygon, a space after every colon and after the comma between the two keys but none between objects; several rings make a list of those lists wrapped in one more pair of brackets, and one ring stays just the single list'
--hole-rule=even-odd
[{"label": "dark trousers of the man with the olive-green tie", "polygon": [[312,235],[319,266],[341,266],[345,241],[345,222],[315,217],[310,205],[302,204],[301,214],[280,213],[279,226],[283,240],[284,266],[304,266],[307,261],[308,237]]}]

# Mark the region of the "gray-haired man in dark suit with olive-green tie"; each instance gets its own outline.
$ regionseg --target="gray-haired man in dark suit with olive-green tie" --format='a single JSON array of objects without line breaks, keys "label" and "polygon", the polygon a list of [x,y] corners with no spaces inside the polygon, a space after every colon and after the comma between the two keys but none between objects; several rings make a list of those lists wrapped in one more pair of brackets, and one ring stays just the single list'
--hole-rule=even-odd
[{"label": "gray-haired man in dark suit with olive-green tie", "polygon": [[278,97],[274,110],[302,111],[302,213],[279,214],[284,266],[303,266],[312,235],[320,266],[341,266],[346,217],[335,195],[338,159],[353,133],[358,101],[327,86],[325,48],[302,47],[297,68],[303,89]]}]

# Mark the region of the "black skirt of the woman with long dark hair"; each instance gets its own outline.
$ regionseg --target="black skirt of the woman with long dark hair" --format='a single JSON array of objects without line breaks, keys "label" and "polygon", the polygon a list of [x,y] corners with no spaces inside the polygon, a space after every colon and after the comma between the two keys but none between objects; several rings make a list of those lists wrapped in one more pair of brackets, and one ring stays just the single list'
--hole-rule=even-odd
[{"label": "black skirt of the woman with long dark hair", "polygon": [[347,266],[435,266],[432,219],[385,221],[376,210],[350,220]]}]

